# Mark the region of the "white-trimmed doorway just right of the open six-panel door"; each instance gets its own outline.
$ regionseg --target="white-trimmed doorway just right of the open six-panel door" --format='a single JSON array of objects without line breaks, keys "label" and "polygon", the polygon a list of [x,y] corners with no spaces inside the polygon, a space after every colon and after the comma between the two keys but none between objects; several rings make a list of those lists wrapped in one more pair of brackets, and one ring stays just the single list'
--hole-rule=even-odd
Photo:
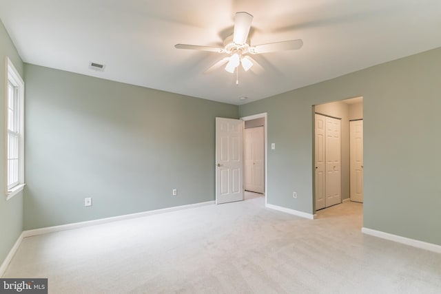
[{"label": "white-trimmed doorway just right of the open six-panel door", "polygon": [[240,118],[244,120],[243,187],[245,200],[265,196],[267,202],[267,114]]}]

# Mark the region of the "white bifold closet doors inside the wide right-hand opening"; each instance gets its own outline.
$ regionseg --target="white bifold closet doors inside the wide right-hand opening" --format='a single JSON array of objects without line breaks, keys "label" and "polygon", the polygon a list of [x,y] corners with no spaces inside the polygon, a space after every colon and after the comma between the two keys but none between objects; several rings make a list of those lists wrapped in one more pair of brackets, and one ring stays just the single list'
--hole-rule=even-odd
[{"label": "white bifold closet doors inside the wide right-hand opening", "polygon": [[316,114],[316,210],[341,203],[340,120]]}]

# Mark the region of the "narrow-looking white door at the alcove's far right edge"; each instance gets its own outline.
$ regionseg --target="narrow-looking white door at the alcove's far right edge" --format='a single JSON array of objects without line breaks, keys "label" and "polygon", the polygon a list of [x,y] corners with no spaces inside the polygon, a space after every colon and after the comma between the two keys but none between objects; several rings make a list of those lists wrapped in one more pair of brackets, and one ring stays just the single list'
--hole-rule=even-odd
[{"label": "narrow-looking white door at the alcove's far right edge", "polygon": [[349,122],[351,201],[363,202],[363,120]]}]

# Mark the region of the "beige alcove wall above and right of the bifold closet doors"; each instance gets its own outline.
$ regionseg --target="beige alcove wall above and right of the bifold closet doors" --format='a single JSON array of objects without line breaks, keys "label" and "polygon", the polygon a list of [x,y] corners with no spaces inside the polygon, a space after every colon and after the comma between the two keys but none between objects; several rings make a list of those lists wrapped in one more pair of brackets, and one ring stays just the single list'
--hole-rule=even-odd
[{"label": "beige alcove wall above and right of the bifold closet doors", "polygon": [[349,105],[342,101],[320,104],[316,105],[315,112],[325,116],[340,118],[341,196],[342,200],[345,200],[351,196],[349,178]]}]

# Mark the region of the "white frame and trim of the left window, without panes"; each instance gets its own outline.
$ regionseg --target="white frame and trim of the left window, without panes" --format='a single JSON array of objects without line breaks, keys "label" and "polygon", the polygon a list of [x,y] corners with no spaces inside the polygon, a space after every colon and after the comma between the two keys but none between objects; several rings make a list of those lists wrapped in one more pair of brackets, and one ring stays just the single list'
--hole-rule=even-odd
[{"label": "white frame and trim of the left window, without panes", "polygon": [[[18,127],[17,132],[19,135],[19,173],[18,173],[18,180],[17,182],[14,182],[10,187],[8,187],[8,135],[9,133],[13,134],[13,132],[10,132],[8,129],[8,88],[9,83],[11,83],[16,91],[17,94],[17,116],[18,116]],[[5,187],[6,187],[6,200],[9,200],[13,196],[17,195],[20,191],[23,190],[23,187],[25,186],[25,152],[24,152],[24,102],[25,102],[25,83],[23,81],[23,78],[21,78],[19,72],[14,67],[8,56],[6,56],[6,95],[5,95]]]}]

